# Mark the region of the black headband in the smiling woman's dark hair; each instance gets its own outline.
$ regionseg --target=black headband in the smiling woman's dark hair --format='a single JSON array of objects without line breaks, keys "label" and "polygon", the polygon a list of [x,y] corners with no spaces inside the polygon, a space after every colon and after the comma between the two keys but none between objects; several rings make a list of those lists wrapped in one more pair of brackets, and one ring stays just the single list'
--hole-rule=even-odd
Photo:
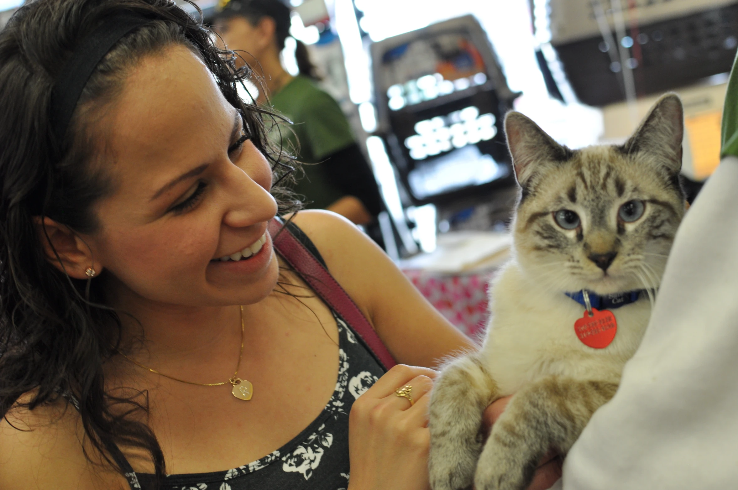
[{"label": "black headband in the smiling woman's dark hair", "polygon": [[66,134],[66,128],[77,107],[77,101],[97,63],[112,47],[137,27],[151,21],[132,10],[119,10],[80,41],[72,57],[64,64],[51,94],[51,123],[58,142]]}]

